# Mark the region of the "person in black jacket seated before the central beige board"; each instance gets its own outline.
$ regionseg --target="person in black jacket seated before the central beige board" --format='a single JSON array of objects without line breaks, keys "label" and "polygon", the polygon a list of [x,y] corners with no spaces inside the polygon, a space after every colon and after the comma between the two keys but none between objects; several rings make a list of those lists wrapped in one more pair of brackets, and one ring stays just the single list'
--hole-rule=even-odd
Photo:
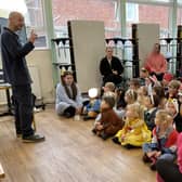
[{"label": "person in black jacket seated before the central beige board", "polygon": [[103,84],[106,82],[114,82],[118,84],[121,82],[121,74],[123,72],[123,67],[118,57],[113,56],[113,48],[106,48],[106,56],[101,60],[100,63],[100,72],[103,75]]}]

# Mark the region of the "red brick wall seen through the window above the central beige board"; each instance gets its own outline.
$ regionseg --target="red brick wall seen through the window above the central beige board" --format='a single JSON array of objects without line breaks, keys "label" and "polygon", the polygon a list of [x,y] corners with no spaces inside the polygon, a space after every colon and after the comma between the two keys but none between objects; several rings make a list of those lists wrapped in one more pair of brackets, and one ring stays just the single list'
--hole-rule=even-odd
[{"label": "red brick wall seen through the window above the central beige board", "polygon": [[70,20],[104,21],[106,27],[117,28],[112,0],[52,0],[55,26],[66,26]]}]

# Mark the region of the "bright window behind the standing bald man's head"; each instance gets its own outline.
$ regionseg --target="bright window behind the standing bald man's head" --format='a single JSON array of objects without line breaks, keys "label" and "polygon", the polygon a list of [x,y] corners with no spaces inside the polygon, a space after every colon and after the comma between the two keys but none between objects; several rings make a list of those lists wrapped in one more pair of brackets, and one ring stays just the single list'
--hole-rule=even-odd
[{"label": "bright window behind the standing bald man's head", "polygon": [[35,29],[38,39],[36,48],[47,47],[47,34],[43,20],[43,6],[41,0],[0,0],[0,17],[8,18],[11,11],[18,11],[24,14],[26,32],[29,36],[30,29]]}]

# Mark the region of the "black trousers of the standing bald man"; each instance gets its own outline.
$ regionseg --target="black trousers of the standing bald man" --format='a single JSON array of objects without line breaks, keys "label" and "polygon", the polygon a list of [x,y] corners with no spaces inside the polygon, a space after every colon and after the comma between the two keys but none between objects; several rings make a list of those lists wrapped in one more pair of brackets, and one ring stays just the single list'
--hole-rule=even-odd
[{"label": "black trousers of the standing bald man", "polygon": [[30,84],[13,86],[13,100],[15,107],[15,129],[16,133],[23,136],[34,134],[32,122],[32,94]]}]

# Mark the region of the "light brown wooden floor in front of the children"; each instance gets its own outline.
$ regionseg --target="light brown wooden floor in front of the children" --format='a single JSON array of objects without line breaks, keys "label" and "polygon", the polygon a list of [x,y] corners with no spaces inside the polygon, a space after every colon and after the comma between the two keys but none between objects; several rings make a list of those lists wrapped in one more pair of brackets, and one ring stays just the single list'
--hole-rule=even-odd
[{"label": "light brown wooden floor in front of the children", "polygon": [[36,114],[46,142],[25,144],[15,138],[12,117],[0,118],[2,182],[155,182],[141,150],[126,150],[91,132],[93,121],[55,115],[53,106]]}]

